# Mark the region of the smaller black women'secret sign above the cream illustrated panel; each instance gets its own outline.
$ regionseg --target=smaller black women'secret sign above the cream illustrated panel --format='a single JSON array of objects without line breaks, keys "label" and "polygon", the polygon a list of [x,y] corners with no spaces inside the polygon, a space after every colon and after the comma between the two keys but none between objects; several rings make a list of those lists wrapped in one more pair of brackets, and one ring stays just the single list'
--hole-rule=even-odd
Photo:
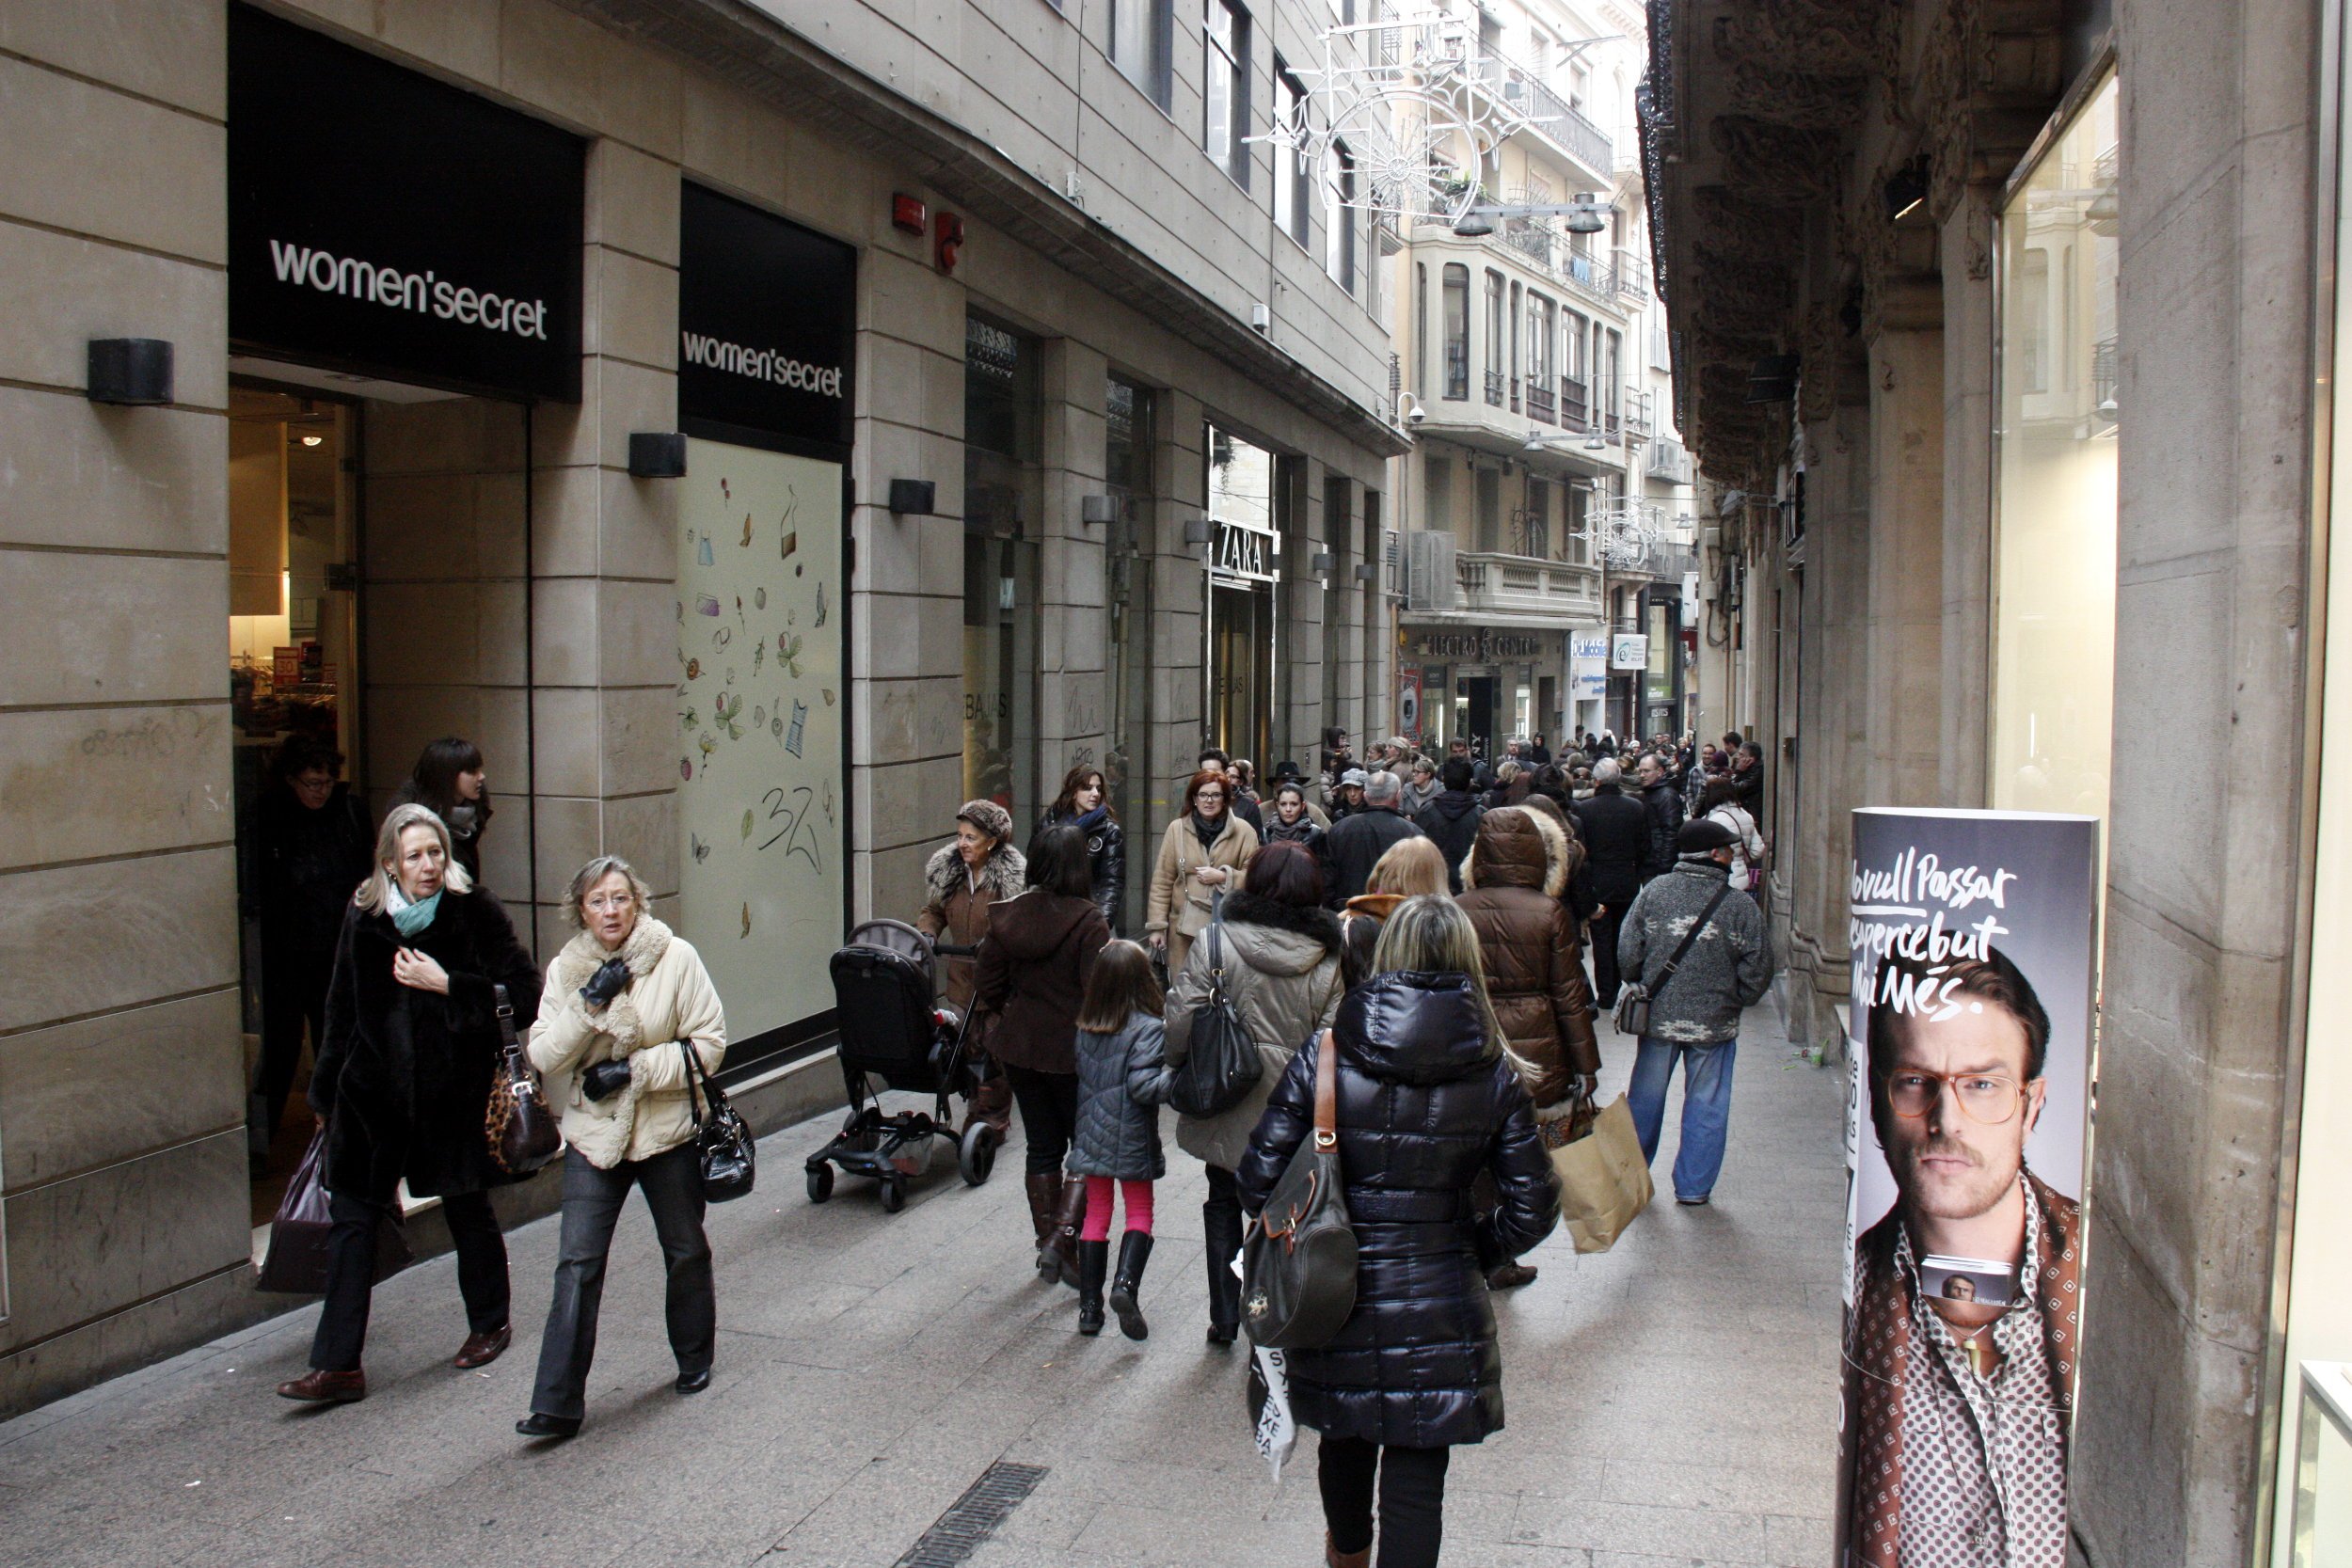
[{"label": "smaller black women'secret sign above the cream illustrated panel", "polygon": [[677,230],[680,425],[849,456],[856,249],[694,183]]}]

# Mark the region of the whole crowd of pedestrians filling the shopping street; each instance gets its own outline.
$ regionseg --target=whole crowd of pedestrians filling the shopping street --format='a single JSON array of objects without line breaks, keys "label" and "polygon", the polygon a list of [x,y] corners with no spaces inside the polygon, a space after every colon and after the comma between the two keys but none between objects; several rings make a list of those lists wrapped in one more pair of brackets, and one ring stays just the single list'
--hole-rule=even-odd
[{"label": "whole crowd of pedestrians filling the shopping street", "polygon": [[[1289,1356],[1291,1410],[1319,1432],[1329,1561],[1435,1563],[1446,1455],[1503,1427],[1491,1291],[1536,1279],[1519,1255],[1557,1222],[1543,1126],[1590,1105],[1597,1018],[1639,987],[1646,1023],[1628,1100],[1653,1157],[1684,1072],[1675,1194],[1705,1204],[1724,1157],[1740,1011],[1771,980],[1759,752],[1578,733],[1555,759],[1515,741],[1489,766],[1402,741],[1359,764],[1327,733],[1317,778],[1200,755],[1160,835],[1143,940],[1120,940],[1124,825],[1105,776],[1073,769],[1025,846],[990,799],[967,802],[924,865],[920,931],[969,1009],[985,1070],[971,1117],[1018,1107],[1035,1269],[1077,1291],[1077,1333],[1150,1326],[1160,1121],[1204,1020],[1237,1027],[1258,1077],[1214,1114],[1178,1114],[1207,1173],[1207,1342],[1244,1326],[1244,1227],[1331,1095],[1359,1241],[1355,1309]],[[534,1018],[527,1060],[555,1105],[562,1232],[532,1408],[517,1432],[574,1436],[607,1255],[630,1190],[668,1272],[677,1392],[710,1382],[717,1307],[703,1234],[694,1084],[727,1023],[694,947],[652,912],[626,860],[564,893],[574,936],[541,976],[482,884],[492,818],[482,755],[426,748],[374,835],[341,757],[289,745],[259,806],[256,889],[273,954],[256,1124],[315,1044],[332,1246],[310,1371],[280,1392],[355,1401],[379,1232],[395,1187],[437,1197],[459,1253],[468,1335],[456,1366],[513,1340],[489,1192],[517,1180],[482,1135],[501,1011]],[[1590,969],[1588,969],[1590,952]],[[1329,1065],[1324,1063],[1329,1053]],[[263,1147],[263,1145],[256,1145]],[[1112,1222],[1120,1241],[1112,1248]],[[1115,1258],[1112,1258],[1115,1251]]]}]

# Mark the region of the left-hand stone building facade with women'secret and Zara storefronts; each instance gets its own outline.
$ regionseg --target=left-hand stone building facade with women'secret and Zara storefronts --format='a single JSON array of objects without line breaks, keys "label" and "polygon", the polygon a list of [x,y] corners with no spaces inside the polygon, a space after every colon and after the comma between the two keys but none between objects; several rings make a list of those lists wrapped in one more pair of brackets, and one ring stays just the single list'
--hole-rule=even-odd
[{"label": "left-hand stone building facade with women'secret and Zara storefronts", "polygon": [[[572,867],[619,851],[699,945],[790,976],[729,997],[739,1098],[776,1119],[840,1095],[823,954],[851,919],[915,912],[967,795],[1028,832],[1068,766],[1110,764],[1148,856],[1218,679],[1211,428],[1268,454],[1282,494],[1265,762],[1385,710],[1385,602],[1359,571],[1404,449],[1378,237],[1322,205],[1308,242],[1277,233],[1272,155],[1240,139],[1277,54],[1319,52],[1329,19],[1155,16],[1112,38],[1110,7],[1044,0],[9,7],[0,127],[38,155],[0,172],[0,1410],[289,1305],[252,1288],[240,849],[292,729],[339,743],[372,809],[426,741],[475,738],[485,882],[541,957]],[[308,78],[259,71],[256,38],[447,110],[355,115],[386,136],[473,127],[499,158],[426,174],[510,193],[510,230],[487,252],[454,221],[423,233],[433,202],[369,186],[414,143],[360,146],[365,125],[261,146],[252,106]],[[299,233],[320,181],[348,181],[332,223],[414,219],[416,249],[334,252],[325,216]],[[433,254],[508,266],[532,235],[543,296],[449,294],[475,339],[426,322],[456,277],[426,277]],[[729,254],[788,261],[713,287]],[[736,308],[821,348],[696,324]],[[412,315],[372,336],[350,310]],[[122,339],[172,346],[167,402],[94,400],[87,346]],[[767,559],[755,531],[781,562],[724,604]],[[689,637],[734,618],[724,654]],[[809,795],[774,790],[736,842],[696,790],[755,743]],[[776,914],[762,839],[823,863],[821,896]]]}]

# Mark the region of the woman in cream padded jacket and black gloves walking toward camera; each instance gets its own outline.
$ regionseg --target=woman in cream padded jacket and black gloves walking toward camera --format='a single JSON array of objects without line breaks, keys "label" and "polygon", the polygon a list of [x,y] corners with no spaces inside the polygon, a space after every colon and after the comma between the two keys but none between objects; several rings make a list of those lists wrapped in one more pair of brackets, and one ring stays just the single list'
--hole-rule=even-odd
[{"label": "woman in cream padded jacket and black gloves walking toward camera", "polygon": [[555,1302],[539,1342],[522,1436],[564,1439],[586,1418],[604,1258],[630,1187],[644,1190],[668,1265],[677,1392],[710,1387],[717,1295],[703,1234],[703,1166],[694,1135],[687,1051],[701,1072],[727,1056],[727,1013],[687,938],[654,919],[652,893],[619,856],[597,856],[564,893],[581,931],[548,964],[532,1025],[532,1067],[562,1112],[564,1227]]}]

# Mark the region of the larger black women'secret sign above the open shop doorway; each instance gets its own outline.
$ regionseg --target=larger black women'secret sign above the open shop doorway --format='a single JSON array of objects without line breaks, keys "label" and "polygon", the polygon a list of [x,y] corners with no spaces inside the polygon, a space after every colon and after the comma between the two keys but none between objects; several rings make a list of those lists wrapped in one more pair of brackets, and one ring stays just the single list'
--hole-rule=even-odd
[{"label": "larger black women'secret sign above the open shop doorway", "polygon": [[586,143],[228,7],[228,336],[579,402]]}]

